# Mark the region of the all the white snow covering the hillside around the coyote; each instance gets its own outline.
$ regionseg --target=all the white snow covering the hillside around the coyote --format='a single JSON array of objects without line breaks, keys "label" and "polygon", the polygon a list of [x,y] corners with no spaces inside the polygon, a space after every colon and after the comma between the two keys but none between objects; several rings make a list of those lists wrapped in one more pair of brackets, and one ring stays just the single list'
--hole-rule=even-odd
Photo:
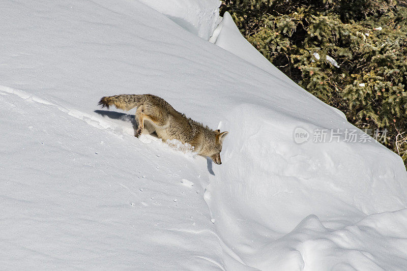
[{"label": "all the white snow covering the hillside around the coyote", "polygon": [[[407,268],[401,159],[344,133],[329,140],[357,129],[230,15],[216,27],[218,4],[3,3],[2,268]],[[228,131],[222,165],[137,139],[134,111],[97,107],[141,93]]]}]

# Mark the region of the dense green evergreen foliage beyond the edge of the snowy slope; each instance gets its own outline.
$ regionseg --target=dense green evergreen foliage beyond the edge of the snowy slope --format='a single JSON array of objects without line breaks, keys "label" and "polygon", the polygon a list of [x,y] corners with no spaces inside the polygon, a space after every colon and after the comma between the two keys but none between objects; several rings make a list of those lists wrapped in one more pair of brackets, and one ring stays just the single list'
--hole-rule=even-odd
[{"label": "dense green evergreen foliage beyond the edge of the snowy slope", "polygon": [[387,129],[384,144],[407,165],[406,6],[396,0],[225,0],[221,15],[228,11],[253,46],[348,121]]}]

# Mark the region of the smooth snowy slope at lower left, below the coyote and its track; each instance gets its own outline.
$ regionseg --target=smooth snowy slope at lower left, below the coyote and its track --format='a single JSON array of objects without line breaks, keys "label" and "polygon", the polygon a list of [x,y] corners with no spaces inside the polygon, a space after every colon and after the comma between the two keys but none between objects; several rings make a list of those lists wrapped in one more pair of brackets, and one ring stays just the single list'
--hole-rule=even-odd
[{"label": "smooth snowy slope at lower left, below the coyote and its track", "polygon": [[0,91],[1,269],[218,269],[205,161]]}]

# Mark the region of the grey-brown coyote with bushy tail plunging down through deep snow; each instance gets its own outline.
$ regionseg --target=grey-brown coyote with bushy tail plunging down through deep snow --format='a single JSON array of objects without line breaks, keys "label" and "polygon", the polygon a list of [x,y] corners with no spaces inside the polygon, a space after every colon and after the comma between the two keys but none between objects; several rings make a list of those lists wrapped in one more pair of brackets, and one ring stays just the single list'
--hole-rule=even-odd
[{"label": "grey-brown coyote with bushy tail plunging down through deep snow", "polygon": [[212,130],[208,126],[193,121],[175,110],[164,99],[151,95],[115,95],[103,97],[99,105],[107,107],[114,105],[116,108],[130,110],[137,107],[135,118],[138,121],[138,129],[135,136],[142,132],[153,133],[162,140],[177,139],[182,143],[188,143],[199,155],[210,157],[220,165],[220,152],[222,142],[228,132]]}]

